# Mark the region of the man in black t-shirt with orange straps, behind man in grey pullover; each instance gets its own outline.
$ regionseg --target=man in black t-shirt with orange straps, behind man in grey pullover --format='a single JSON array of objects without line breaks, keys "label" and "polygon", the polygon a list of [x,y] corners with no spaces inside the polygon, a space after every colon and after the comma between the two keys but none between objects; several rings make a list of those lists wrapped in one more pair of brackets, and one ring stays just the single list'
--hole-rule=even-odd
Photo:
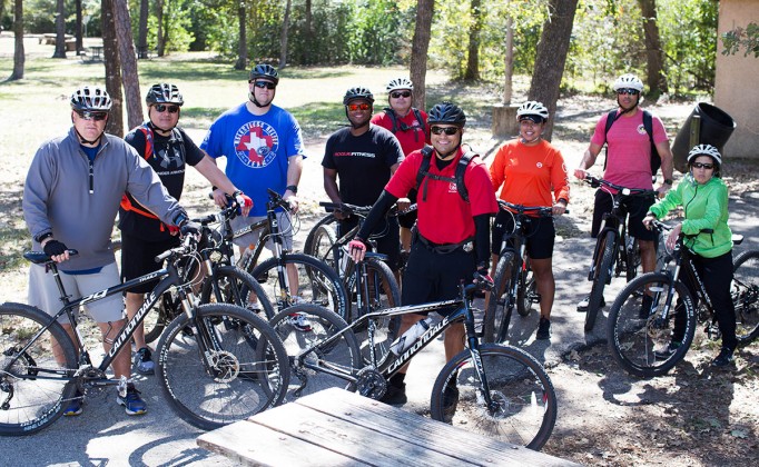
[{"label": "man in black t-shirt with orange straps, behind man in grey pullover", "polygon": [[[185,168],[195,167],[211,185],[233,196],[243,206],[244,215],[253,206],[219,170],[214,161],[200,150],[187,133],[177,127],[184,99],[174,85],[154,85],[146,98],[149,120],[132,129],[124,139],[137,149],[160,181],[176,199],[181,197]],[[119,209],[121,229],[121,279],[124,281],[159,269],[155,257],[179,246],[174,226],[167,226],[152,212],[140,206],[130,193],[125,193]],[[127,292],[127,317],[131,319],[145,302],[145,294],[152,290],[156,281],[146,282]],[[150,349],[145,342],[145,329],[138,326],[134,335],[137,371],[149,375],[155,370]]]}]

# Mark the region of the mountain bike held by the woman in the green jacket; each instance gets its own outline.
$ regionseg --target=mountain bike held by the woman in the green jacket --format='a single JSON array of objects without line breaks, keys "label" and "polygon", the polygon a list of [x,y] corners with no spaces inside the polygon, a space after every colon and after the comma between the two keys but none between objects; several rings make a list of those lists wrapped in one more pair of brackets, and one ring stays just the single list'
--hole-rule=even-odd
[{"label": "mountain bike held by the woman in the green jacket", "polygon": [[[659,231],[671,229],[659,221],[652,225]],[[652,377],[669,371],[688,352],[698,322],[704,324],[703,331],[710,339],[721,337],[714,308],[703,285],[706,278],[698,274],[692,254],[683,245],[689,237],[681,235],[666,258],[664,267],[628,284],[611,307],[609,349],[614,360],[631,375]],[[733,245],[741,241],[742,237],[733,236]],[[683,274],[697,285],[698,309],[693,301],[696,297],[680,280]],[[735,258],[730,295],[736,308],[738,345],[742,347],[759,336],[759,250],[743,251]],[[670,352],[674,347],[670,344],[677,319],[683,320],[686,331],[681,344]]]}]

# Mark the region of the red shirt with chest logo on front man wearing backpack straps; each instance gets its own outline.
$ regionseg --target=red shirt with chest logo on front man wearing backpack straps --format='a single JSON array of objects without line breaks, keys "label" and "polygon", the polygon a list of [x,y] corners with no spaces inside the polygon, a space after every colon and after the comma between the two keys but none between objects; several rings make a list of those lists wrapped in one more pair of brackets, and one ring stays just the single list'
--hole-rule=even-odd
[{"label": "red shirt with chest logo on front man wearing backpack straps", "polygon": [[[440,170],[433,153],[430,172],[455,179],[456,165],[462,155],[460,148],[453,162]],[[416,188],[416,175],[422,159],[420,150],[408,155],[387,182],[385,190],[396,198],[403,198],[411,189]],[[469,190],[470,202],[461,197],[455,181],[435,180],[430,177],[422,181],[416,202],[417,228],[424,238],[438,245],[459,244],[474,237],[474,216],[497,211],[493,185],[485,165],[479,157],[472,159],[466,167],[464,183]]]}]

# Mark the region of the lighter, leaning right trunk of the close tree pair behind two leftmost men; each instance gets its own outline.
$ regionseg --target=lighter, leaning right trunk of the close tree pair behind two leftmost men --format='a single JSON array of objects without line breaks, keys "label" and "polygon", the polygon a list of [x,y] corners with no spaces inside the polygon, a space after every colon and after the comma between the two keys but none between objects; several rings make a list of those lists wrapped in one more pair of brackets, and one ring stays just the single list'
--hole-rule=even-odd
[{"label": "lighter, leaning right trunk of the close tree pair behind two leftmost men", "polygon": [[121,62],[121,82],[127,102],[127,122],[135,128],[142,122],[139,74],[135,58],[135,42],[131,38],[131,21],[127,0],[114,0],[114,23]]}]

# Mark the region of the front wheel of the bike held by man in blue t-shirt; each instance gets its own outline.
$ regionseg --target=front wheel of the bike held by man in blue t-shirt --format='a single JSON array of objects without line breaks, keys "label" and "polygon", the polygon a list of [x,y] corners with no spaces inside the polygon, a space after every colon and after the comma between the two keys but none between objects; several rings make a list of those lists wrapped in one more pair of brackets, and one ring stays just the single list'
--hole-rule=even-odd
[{"label": "front wheel of the bike held by man in blue t-shirt", "polygon": [[[294,305],[290,294],[283,294],[277,267],[278,258],[268,258],[253,269],[250,275],[260,284],[266,297],[277,311]],[[298,297],[308,304],[329,308],[341,318],[348,316],[348,300],[345,287],[337,272],[312,256],[284,255],[285,265],[295,265],[298,270]]]}]

